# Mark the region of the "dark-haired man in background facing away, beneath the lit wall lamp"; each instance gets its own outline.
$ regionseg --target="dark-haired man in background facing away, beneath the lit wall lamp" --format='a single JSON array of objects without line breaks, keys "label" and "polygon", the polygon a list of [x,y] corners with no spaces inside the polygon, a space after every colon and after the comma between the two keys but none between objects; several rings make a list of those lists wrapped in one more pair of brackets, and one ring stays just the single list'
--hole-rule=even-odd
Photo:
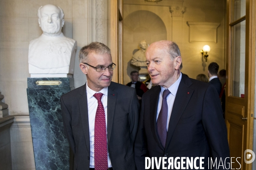
[{"label": "dark-haired man in background facing away, beneath the lit wall lamp", "polygon": [[216,62],[211,62],[208,66],[208,76],[209,76],[209,84],[213,85],[218,92],[218,95],[221,94],[221,81],[218,79],[218,64]]}]

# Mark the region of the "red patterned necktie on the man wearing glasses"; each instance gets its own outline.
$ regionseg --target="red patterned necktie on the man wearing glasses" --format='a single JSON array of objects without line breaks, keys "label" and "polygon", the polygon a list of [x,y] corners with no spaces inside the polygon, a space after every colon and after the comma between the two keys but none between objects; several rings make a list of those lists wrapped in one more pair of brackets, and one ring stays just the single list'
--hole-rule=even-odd
[{"label": "red patterned necktie on the man wearing glasses", "polygon": [[98,107],[94,124],[94,168],[95,170],[108,169],[108,149],[106,135],[105,111],[102,105],[102,93],[93,95],[98,100]]}]

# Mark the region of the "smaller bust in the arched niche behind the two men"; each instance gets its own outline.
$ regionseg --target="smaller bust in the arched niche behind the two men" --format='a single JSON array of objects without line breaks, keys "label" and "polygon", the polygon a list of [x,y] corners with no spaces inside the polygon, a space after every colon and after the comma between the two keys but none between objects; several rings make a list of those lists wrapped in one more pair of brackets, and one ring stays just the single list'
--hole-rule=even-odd
[{"label": "smaller bust in the arched niche behind the two men", "polygon": [[146,65],[146,56],[145,56],[145,50],[147,48],[147,42],[145,40],[142,40],[140,43],[140,50],[136,51],[131,59],[131,64],[135,66],[147,66]]}]

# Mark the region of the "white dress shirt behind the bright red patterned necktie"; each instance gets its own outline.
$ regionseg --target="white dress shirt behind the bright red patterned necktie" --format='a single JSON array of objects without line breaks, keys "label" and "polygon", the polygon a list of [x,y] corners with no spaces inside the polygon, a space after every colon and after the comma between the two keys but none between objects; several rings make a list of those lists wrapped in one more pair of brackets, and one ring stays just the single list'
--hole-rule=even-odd
[{"label": "white dress shirt behind the bright red patterned necktie", "polygon": [[[87,93],[87,106],[88,106],[88,120],[89,120],[89,132],[90,132],[90,168],[94,168],[94,124],[95,124],[95,116],[98,107],[98,100],[93,96],[95,93],[102,93],[102,104],[105,111],[105,119],[106,119],[106,134],[107,131],[107,104],[108,104],[108,87],[103,88],[101,91],[96,92],[88,87],[88,83],[86,83],[86,93]],[[107,136],[106,136],[107,139]],[[107,139],[108,142],[108,139]],[[108,167],[112,167],[109,153],[108,153]]]}]

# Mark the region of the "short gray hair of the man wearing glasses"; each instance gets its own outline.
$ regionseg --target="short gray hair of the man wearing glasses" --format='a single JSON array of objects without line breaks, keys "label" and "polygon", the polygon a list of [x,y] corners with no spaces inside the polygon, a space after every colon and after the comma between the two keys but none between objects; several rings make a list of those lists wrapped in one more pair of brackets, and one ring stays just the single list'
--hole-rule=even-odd
[{"label": "short gray hair of the man wearing glasses", "polygon": [[111,51],[107,45],[101,42],[91,42],[90,44],[85,45],[80,49],[78,54],[79,63],[88,62],[88,56],[90,53],[96,53],[101,55],[107,53],[111,55]]}]

